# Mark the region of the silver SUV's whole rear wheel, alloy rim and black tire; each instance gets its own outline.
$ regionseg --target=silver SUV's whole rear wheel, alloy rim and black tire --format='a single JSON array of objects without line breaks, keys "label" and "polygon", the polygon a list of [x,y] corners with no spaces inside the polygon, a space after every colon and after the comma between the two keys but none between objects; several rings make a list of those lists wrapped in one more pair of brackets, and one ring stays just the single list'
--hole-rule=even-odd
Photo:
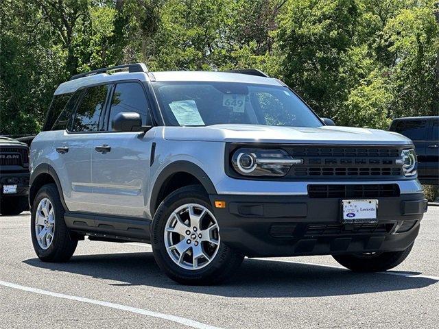
[{"label": "silver SUV's whole rear wheel, alloy rim and black tire", "polygon": [[65,262],[78,245],[64,221],[64,207],[55,184],[40,188],[31,210],[32,244],[43,262]]}]

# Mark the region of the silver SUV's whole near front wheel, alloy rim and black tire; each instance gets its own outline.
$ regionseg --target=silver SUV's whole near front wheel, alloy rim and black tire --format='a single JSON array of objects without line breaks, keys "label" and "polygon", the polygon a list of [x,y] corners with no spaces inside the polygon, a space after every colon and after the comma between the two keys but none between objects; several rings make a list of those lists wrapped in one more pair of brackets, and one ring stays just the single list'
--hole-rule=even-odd
[{"label": "silver SUV's whole near front wheel, alloy rim and black tire", "polygon": [[224,245],[219,232],[203,188],[179,188],[165,198],[154,215],[154,258],[176,282],[217,284],[229,278],[244,259]]}]

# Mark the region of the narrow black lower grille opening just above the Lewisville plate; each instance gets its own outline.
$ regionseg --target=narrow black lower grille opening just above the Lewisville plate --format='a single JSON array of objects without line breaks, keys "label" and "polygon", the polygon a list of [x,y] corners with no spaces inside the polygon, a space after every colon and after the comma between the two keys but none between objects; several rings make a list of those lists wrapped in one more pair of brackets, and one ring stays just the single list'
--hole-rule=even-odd
[{"label": "narrow black lower grille opening just above the Lewisville plate", "polygon": [[399,197],[398,184],[311,184],[308,195],[329,197]]}]

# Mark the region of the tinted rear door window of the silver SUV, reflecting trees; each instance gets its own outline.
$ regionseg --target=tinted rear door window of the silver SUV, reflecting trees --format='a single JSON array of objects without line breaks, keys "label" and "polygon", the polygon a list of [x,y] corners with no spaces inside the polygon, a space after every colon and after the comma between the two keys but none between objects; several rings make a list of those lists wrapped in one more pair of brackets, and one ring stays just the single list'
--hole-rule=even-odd
[{"label": "tinted rear door window of the silver SUV, reflecting trees", "polygon": [[75,119],[71,127],[72,132],[96,132],[99,130],[99,117],[104,108],[108,86],[87,88],[82,97]]}]

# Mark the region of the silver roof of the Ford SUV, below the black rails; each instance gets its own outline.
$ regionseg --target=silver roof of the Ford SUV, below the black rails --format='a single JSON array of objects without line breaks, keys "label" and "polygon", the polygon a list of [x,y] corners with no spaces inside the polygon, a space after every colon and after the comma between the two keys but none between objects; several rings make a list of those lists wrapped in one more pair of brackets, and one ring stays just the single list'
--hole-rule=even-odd
[{"label": "silver roof of the Ford SUV, below the black rails", "polygon": [[167,71],[167,72],[117,72],[117,73],[99,73],[79,77],[75,80],[63,82],[56,88],[55,95],[73,93],[78,88],[91,86],[93,84],[102,84],[105,82],[114,82],[119,80],[140,80],[146,81],[193,81],[193,82],[241,82],[244,84],[265,84],[272,86],[282,86],[280,82],[271,77],[261,77],[256,75],[212,72],[212,71]]}]

